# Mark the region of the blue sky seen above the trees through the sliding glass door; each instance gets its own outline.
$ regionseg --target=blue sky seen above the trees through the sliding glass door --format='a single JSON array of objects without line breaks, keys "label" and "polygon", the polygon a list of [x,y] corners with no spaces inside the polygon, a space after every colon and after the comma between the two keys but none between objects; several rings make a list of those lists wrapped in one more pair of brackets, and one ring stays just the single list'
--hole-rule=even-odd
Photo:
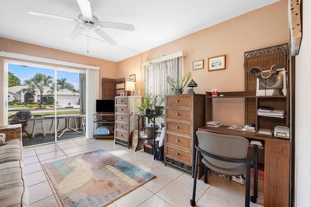
[{"label": "blue sky seen above the trees through the sliding glass door", "polygon": [[[54,70],[39,68],[33,66],[21,66],[18,64],[8,64],[8,70],[11,73],[14,73],[20,79],[21,84],[24,83],[24,80],[28,80],[33,78],[35,73],[44,73],[46,75],[50,75],[54,80]],[[79,73],[73,73],[68,71],[57,71],[57,79],[64,78],[68,83],[74,86],[75,90],[79,90]]]}]

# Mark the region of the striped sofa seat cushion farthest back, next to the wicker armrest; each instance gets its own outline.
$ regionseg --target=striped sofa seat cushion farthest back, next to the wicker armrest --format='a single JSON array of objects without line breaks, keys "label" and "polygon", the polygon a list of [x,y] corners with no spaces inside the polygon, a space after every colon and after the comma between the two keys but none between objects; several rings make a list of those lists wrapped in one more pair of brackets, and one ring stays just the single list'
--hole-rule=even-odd
[{"label": "striped sofa seat cushion farthest back, next to the wicker armrest", "polygon": [[10,140],[0,146],[0,164],[22,159],[22,142],[19,139]]}]

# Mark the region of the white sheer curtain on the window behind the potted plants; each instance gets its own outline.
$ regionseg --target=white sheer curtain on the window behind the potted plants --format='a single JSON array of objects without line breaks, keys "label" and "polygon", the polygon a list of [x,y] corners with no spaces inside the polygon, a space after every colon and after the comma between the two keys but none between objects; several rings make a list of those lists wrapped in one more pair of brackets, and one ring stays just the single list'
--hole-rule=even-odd
[{"label": "white sheer curtain on the window behind the potted plants", "polygon": [[[182,57],[153,63],[146,66],[145,69],[145,93],[152,93],[164,97],[165,94],[172,94],[171,86],[166,81],[166,77],[177,79],[180,76]],[[160,99],[158,98],[158,103]]]}]

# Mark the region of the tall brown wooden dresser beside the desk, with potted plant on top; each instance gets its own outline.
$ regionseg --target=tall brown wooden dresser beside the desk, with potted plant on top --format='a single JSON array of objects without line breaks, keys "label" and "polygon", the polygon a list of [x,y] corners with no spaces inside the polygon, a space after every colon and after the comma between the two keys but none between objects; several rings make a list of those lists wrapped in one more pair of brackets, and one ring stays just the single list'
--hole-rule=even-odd
[{"label": "tall brown wooden dresser beside the desk, with potted plant on top", "polygon": [[205,95],[165,96],[164,164],[194,172],[195,132],[205,126]]}]

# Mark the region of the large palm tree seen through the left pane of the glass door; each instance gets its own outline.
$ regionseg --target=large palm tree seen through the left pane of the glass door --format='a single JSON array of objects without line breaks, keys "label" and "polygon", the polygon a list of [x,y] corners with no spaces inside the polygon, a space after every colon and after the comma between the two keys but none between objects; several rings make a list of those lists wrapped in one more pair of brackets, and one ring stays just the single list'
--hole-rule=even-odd
[{"label": "large palm tree seen through the left pane of the glass door", "polygon": [[40,91],[40,108],[43,105],[43,90],[50,89],[50,85],[53,83],[53,77],[46,74],[36,73],[31,79],[24,80],[24,85],[28,86],[22,89],[22,92],[30,92],[34,95],[35,89]]}]

